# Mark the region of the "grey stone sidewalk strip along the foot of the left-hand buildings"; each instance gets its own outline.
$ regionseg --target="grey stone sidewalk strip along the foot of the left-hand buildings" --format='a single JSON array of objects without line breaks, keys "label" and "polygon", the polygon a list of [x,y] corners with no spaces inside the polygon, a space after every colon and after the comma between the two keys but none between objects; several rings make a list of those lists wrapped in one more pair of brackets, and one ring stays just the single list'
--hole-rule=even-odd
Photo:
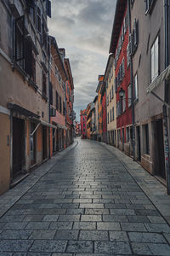
[{"label": "grey stone sidewalk strip along the foot of the left-hand buildings", "polygon": [[42,178],[61,158],[65,156],[71,149],[77,147],[77,140],[65,150],[55,154],[50,160],[37,167],[28,177],[17,184],[13,189],[9,189],[3,195],[0,195],[0,218],[20,200],[20,198],[31,189],[40,178]]}]

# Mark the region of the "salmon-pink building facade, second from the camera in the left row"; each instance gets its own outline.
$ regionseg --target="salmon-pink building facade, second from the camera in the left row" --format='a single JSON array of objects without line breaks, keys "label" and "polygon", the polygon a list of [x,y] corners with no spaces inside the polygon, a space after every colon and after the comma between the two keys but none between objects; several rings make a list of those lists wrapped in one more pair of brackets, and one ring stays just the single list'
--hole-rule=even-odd
[{"label": "salmon-pink building facade, second from the camera in the left row", "polygon": [[54,125],[51,129],[51,154],[55,154],[66,147],[65,126],[65,72],[64,58],[59,51],[56,39],[51,37],[51,65],[50,65],[50,122]]}]

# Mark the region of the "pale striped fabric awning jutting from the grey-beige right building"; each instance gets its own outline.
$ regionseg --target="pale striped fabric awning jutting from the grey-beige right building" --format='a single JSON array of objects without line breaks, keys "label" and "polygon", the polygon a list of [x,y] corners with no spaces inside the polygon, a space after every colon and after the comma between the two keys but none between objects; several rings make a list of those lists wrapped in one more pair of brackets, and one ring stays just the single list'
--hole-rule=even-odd
[{"label": "pale striped fabric awning jutting from the grey-beige right building", "polygon": [[147,93],[154,90],[161,82],[170,79],[170,65],[150,84],[147,88]]}]

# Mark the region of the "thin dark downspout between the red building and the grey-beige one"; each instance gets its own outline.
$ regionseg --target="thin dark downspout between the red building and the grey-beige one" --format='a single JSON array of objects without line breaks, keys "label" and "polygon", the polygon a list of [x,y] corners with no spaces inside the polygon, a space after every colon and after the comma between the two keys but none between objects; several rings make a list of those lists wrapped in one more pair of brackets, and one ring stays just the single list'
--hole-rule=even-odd
[{"label": "thin dark downspout between the red building and the grey-beige one", "polygon": [[[129,34],[131,34],[131,11],[130,0],[127,1],[128,9],[128,28]],[[130,79],[131,79],[131,103],[132,103],[132,119],[133,119],[133,160],[135,160],[135,127],[134,127],[134,101],[133,101],[133,57],[130,56]]]}]

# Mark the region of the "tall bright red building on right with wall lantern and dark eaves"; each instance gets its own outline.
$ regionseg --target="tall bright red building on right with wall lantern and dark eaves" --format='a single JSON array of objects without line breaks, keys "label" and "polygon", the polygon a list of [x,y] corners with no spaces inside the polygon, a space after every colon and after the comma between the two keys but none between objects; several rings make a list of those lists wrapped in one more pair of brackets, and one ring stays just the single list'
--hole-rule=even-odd
[{"label": "tall bright red building on right with wall lantern and dark eaves", "polygon": [[[110,54],[115,58],[116,69],[116,127],[117,145],[127,154],[131,152],[132,146],[132,87],[130,78],[130,56],[129,51],[129,19],[127,1],[119,0],[116,3],[116,15],[111,35]],[[120,97],[122,90],[124,96]]]}]

